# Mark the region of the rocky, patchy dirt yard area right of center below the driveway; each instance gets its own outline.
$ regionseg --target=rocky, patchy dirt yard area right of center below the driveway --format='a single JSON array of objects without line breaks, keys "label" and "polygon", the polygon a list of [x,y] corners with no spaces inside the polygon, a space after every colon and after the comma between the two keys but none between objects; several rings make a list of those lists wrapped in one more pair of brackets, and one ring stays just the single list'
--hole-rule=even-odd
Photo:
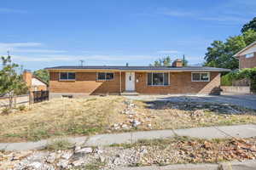
[{"label": "rocky, patchy dirt yard area right of center below the driveway", "polygon": [[236,105],[195,102],[134,101],[142,125],[137,128],[177,129],[256,122],[256,111]]}]

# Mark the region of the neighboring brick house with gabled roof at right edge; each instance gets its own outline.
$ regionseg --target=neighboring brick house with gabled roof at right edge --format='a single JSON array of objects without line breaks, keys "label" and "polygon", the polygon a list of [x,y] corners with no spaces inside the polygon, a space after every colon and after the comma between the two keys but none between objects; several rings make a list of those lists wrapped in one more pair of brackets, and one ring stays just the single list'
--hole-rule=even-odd
[{"label": "neighboring brick house with gabled roof at right edge", "polygon": [[234,56],[239,59],[239,69],[256,67],[256,42],[241,49]]}]

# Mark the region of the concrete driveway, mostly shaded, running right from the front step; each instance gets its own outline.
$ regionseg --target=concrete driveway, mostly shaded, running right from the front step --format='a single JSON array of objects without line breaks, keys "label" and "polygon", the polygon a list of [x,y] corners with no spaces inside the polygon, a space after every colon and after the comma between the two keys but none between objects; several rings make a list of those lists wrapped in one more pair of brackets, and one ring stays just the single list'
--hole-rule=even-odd
[{"label": "concrete driveway, mostly shaded, running right from the front step", "polygon": [[256,94],[221,94],[221,95],[139,95],[126,96],[128,99],[168,100],[173,102],[209,102],[232,104],[256,110]]}]

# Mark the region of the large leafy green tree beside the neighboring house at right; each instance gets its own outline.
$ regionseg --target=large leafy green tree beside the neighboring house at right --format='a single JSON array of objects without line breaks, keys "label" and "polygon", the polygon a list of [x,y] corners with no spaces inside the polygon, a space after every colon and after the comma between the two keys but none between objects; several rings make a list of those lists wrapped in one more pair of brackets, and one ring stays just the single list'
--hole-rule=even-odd
[{"label": "large leafy green tree beside the neighboring house at right", "polygon": [[207,48],[204,65],[235,70],[238,68],[238,59],[233,56],[254,41],[256,31],[253,30],[245,31],[239,36],[228,37],[225,42],[214,41]]}]

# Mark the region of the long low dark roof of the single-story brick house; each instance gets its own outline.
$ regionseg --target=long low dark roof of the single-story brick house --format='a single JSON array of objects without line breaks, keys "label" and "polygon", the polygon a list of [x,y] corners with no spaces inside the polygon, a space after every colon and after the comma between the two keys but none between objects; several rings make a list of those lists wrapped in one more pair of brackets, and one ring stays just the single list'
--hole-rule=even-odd
[{"label": "long low dark roof of the single-story brick house", "polygon": [[118,71],[230,71],[230,69],[222,69],[205,66],[55,66],[47,67],[46,70],[118,70]]}]

